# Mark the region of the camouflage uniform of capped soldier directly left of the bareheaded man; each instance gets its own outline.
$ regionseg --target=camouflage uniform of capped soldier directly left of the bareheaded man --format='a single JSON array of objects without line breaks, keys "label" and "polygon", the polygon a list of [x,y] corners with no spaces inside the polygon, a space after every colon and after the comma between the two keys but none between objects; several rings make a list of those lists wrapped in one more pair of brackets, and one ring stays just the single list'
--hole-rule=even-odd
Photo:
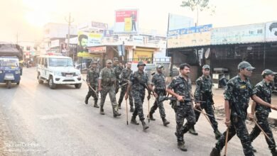
[{"label": "camouflage uniform of capped soldier directly left of the bareheaded man", "polygon": [[[165,96],[165,75],[163,73],[156,73],[152,77],[152,83],[155,86],[154,91],[159,96]],[[158,99],[158,98],[157,98]],[[163,108],[163,102],[158,102],[156,99],[155,103],[151,107],[150,114],[155,113],[156,109],[159,108],[161,118],[165,118],[165,108]]]}]

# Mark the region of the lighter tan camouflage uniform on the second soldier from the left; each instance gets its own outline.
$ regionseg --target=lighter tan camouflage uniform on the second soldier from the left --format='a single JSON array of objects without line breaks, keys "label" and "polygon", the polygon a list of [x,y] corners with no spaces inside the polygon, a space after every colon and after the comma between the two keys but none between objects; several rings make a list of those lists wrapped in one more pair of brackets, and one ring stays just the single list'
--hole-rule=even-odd
[{"label": "lighter tan camouflage uniform on the second soldier from the left", "polygon": [[115,111],[116,108],[116,95],[114,92],[114,81],[116,80],[116,76],[114,73],[114,69],[104,67],[101,72],[99,79],[102,79],[102,91],[101,91],[101,103],[100,103],[100,113],[103,111],[104,102],[106,100],[106,96],[109,93],[109,99],[112,102],[112,110],[113,113],[117,113]]}]

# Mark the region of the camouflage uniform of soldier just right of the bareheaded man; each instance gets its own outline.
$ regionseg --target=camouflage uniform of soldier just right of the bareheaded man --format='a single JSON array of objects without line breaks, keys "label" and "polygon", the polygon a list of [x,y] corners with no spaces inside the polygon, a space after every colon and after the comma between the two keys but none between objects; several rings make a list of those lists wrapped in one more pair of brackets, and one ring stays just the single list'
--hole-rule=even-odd
[{"label": "camouflage uniform of soldier just right of the bareheaded man", "polygon": [[[212,107],[213,100],[212,100],[212,79],[210,76],[205,77],[202,75],[202,77],[199,77],[196,80],[196,89],[195,89],[195,101],[206,101],[206,103],[201,103],[201,108],[204,108],[207,114],[210,114],[211,116],[207,116],[211,123],[212,128],[214,129],[214,132],[217,131],[217,121],[215,121],[214,118],[214,109]],[[197,108],[201,111],[200,108]],[[200,112],[195,111],[195,120],[198,121],[200,117]],[[220,137],[220,135],[219,135]]]}]

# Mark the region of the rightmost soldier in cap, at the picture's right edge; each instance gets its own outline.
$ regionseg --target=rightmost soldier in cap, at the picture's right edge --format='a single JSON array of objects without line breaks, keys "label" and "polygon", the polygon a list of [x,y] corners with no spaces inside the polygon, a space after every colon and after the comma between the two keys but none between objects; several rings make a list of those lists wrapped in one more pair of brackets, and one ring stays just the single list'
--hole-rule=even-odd
[{"label": "rightmost soldier in cap, at the picture's right edge", "polygon": [[[274,75],[276,72],[272,72],[271,69],[265,69],[264,72],[261,73],[262,77],[264,78],[263,81],[259,82],[255,86],[256,96],[259,96],[259,98],[263,99],[264,101],[271,104],[271,92],[273,89],[273,85],[271,84],[274,80]],[[255,113],[256,111],[256,113]],[[271,108],[261,106],[259,104],[256,104],[256,102],[253,102],[251,106],[251,114],[256,114],[257,123],[261,128],[264,130],[264,132],[268,135],[270,140],[266,138],[266,143],[268,144],[269,150],[271,150],[271,153],[273,156],[277,156],[276,151],[276,143],[273,138],[273,133],[271,131],[271,128],[268,124],[268,115],[271,112]],[[258,126],[255,126],[250,133],[250,140],[253,141],[256,139],[256,137],[261,133],[261,130]],[[256,152],[256,150],[254,150]]]}]

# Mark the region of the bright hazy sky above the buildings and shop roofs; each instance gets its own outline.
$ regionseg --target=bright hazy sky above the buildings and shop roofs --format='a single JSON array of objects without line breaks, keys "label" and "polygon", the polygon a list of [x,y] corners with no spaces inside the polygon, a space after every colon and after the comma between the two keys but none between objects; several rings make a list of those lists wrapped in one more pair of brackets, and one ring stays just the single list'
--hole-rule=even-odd
[{"label": "bright hazy sky above the buildings and shop roofs", "polygon": [[[0,41],[40,40],[43,25],[65,23],[72,13],[74,24],[89,21],[114,23],[117,9],[139,9],[139,27],[165,31],[168,13],[195,17],[196,13],[180,7],[182,0],[1,0]],[[201,12],[199,23],[213,27],[277,21],[276,0],[210,0],[215,14]],[[196,21],[196,20],[195,20]]]}]

